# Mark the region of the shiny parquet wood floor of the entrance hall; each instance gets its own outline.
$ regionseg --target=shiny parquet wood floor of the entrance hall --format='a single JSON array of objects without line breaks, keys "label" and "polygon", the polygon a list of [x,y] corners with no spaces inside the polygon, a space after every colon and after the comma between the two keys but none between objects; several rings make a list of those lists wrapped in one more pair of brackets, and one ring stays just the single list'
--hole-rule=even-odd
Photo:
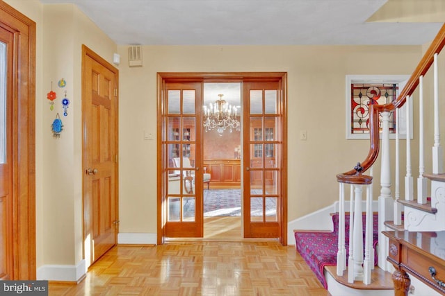
[{"label": "shiny parquet wood floor of the entrance hall", "polygon": [[330,295],[295,247],[275,241],[118,245],[78,285],[49,295]]}]

